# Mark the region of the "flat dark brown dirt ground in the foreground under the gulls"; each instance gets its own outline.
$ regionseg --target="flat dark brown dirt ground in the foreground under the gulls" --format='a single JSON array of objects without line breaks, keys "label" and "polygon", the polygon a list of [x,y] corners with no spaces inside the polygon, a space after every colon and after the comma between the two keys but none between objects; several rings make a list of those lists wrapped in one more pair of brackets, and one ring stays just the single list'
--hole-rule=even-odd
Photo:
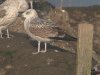
[{"label": "flat dark brown dirt ground in the foreground under the gulls", "polygon": [[14,36],[10,39],[0,38],[0,75],[75,74],[74,54],[48,45],[47,53],[33,55],[37,51],[36,41],[25,34],[11,34]]}]

